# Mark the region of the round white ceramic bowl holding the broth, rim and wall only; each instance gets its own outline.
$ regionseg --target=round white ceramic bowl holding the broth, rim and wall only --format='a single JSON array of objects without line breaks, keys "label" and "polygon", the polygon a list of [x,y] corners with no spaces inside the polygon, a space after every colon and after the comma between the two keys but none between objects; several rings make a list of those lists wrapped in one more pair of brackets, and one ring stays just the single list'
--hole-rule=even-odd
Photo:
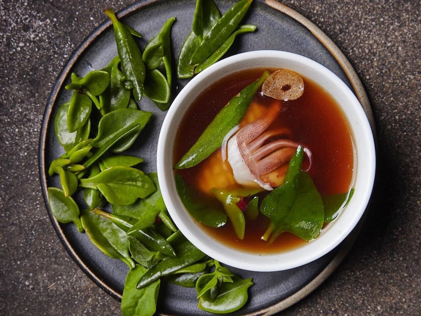
[{"label": "round white ceramic bowl holding the broth, rim and wall only", "polygon": [[[176,191],[172,169],[176,130],[192,101],[206,87],[227,74],[255,67],[291,69],[329,91],[346,116],[355,147],[355,192],[349,204],[316,239],[302,247],[282,253],[246,253],[213,239],[196,224],[185,209]],[[169,108],[159,135],[157,172],[168,212],[191,243],[221,263],[244,270],[269,272],[292,269],[312,262],[329,253],[352,232],[366,210],[372,193],[376,169],[375,155],[373,133],[364,110],[354,93],[333,72],[300,55],[261,50],[223,59],[186,84]]]}]

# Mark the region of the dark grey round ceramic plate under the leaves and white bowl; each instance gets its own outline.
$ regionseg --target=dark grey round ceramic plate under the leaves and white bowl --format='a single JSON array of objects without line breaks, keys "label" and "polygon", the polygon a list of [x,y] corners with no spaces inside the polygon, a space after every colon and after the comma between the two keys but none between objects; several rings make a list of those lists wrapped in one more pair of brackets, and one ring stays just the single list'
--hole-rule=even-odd
[{"label": "dark grey round ceramic plate under the leaves and white bowl", "polygon": [[[225,12],[235,1],[215,2],[220,11]],[[174,56],[177,56],[182,42],[191,30],[194,6],[194,0],[142,0],[119,12],[118,15],[143,35],[145,40],[139,41],[141,46],[160,30],[164,21],[172,16],[176,17],[171,37]],[[367,96],[354,69],[336,45],[314,24],[274,0],[254,1],[250,14],[243,22],[257,25],[257,30],[255,33],[241,35],[227,56],[250,50],[276,49],[309,57],[331,69],[355,91],[372,121]],[[110,23],[105,21],[70,57],[51,92],[40,141],[40,172],[47,209],[47,187],[59,186],[57,177],[49,177],[46,170],[50,162],[63,153],[54,135],[55,113],[61,104],[70,99],[70,93],[63,87],[69,82],[72,72],[84,76],[92,69],[104,67],[116,54],[112,28]],[[173,94],[176,95],[185,84],[186,81],[177,81],[173,87]],[[135,143],[131,151],[132,154],[146,159],[146,163],[143,164],[144,171],[155,171],[156,142],[166,113],[158,110],[146,98],[142,100],[140,107],[154,112],[154,115],[146,130],[142,132],[142,141]],[[99,286],[119,299],[128,271],[127,266],[100,252],[91,244],[86,234],[77,232],[74,225],[59,224],[50,212],[49,214],[59,237],[74,260]],[[247,305],[233,315],[273,315],[308,295],[335,270],[352,246],[357,234],[358,228],[331,253],[294,270],[255,273],[233,269],[243,277],[253,277],[255,283],[250,289]],[[196,308],[195,296],[194,289],[164,285],[160,291],[158,314],[195,316],[208,314]]]}]

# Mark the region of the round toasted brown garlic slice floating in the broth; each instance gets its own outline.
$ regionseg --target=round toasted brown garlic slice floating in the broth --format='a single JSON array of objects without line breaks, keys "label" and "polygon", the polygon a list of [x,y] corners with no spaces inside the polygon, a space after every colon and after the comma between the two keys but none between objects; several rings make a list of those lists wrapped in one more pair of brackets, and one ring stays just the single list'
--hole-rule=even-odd
[{"label": "round toasted brown garlic slice floating in the broth", "polygon": [[295,100],[304,93],[304,81],[292,70],[279,69],[265,80],[262,93],[277,100]]}]

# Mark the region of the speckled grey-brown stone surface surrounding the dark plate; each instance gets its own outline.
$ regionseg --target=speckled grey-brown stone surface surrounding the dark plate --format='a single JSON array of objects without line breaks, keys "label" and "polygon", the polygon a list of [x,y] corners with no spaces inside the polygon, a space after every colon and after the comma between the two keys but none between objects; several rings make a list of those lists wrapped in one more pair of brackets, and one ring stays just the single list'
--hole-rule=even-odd
[{"label": "speckled grey-brown stone surface surrounding the dark plate", "polygon": [[[117,0],[0,0],[0,315],[120,315],[65,252],[42,200],[38,143],[66,59]],[[281,313],[421,313],[421,3],[287,0],[355,66],[373,106],[379,169],[372,211],[349,255]]]}]

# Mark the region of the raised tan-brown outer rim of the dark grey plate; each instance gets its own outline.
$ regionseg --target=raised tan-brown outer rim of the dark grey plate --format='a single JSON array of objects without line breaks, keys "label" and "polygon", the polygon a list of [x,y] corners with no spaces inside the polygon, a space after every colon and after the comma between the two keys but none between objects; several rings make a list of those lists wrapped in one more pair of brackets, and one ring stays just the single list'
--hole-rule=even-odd
[{"label": "raised tan-brown outer rim of the dark grey plate", "polygon": [[[119,18],[125,18],[126,16],[134,13],[137,10],[142,9],[150,4],[155,2],[159,2],[161,0],[139,0],[136,1],[122,10],[119,10],[116,14]],[[276,0],[260,0],[259,2],[263,2],[269,7],[273,8],[274,10],[280,12],[281,14],[285,14],[288,17],[292,18],[296,22],[300,23],[304,26],[311,34],[329,51],[332,57],[337,61],[340,68],[344,71],[346,77],[350,81],[353,92],[356,94],[364,112],[368,118],[370,126],[373,131],[375,143],[377,142],[376,137],[376,128],[375,128],[375,121],[374,116],[371,108],[371,104],[366,93],[366,90],[359,79],[359,76],[340,50],[340,48],[333,42],[319,27],[316,26],[313,22],[309,19],[304,17],[303,15],[299,14],[294,9],[288,7],[285,4],[282,4]],[[51,92],[48,96],[46,107],[44,110],[44,114],[42,116],[42,126],[40,131],[39,137],[39,171],[40,171],[40,182],[42,187],[42,196],[44,200],[44,204],[48,213],[48,216],[53,224],[54,230],[56,234],[59,236],[64,249],[67,253],[70,254],[73,261],[79,266],[79,268],[87,275],[89,278],[99,286],[105,293],[114,297],[116,300],[121,300],[122,295],[118,293],[118,291],[114,290],[105,281],[101,280],[98,275],[94,273],[82,260],[82,258],[77,254],[75,249],[70,244],[69,240],[65,237],[61,224],[54,218],[49,210],[48,205],[48,196],[47,196],[47,177],[46,177],[46,166],[45,166],[45,147],[46,147],[46,138],[47,138],[47,129],[48,125],[46,122],[49,121],[49,118],[52,115],[54,100],[57,99],[57,96],[60,92],[60,87],[63,86],[63,82],[67,78],[67,75],[73,65],[77,62],[79,57],[84,53],[84,51],[89,47],[89,45],[98,38],[107,28],[111,27],[111,21],[103,21],[100,23],[94,30],[92,30],[88,36],[84,38],[84,40],[74,49],[70,57],[67,59],[66,63],[63,65],[62,69],[60,70],[59,75],[57,76],[53,86],[51,87]],[[367,210],[369,207],[367,208]],[[276,313],[279,313],[288,307],[294,305],[295,303],[302,300],[304,297],[312,293],[316,288],[318,288],[333,272],[337,269],[346,255],[349,253],[350,249],[352,248],[357,236],[361,230],[362,224],[367,214],[367,210],[364,212],[363,218],[361,218],[360,222],[358,223],[357,227],[354,231],[345,239],[345,241],[338,246],[339,250],[337,254],[333,257],[331,262],[308,284],[304,285],[301,289],[295,292],[293,295],[290,295],[286,299],[277,302],[276,304],[260,310],[256,313],[248,314],[248,316],[252,315],[261,315],[261,316],[270,316]],[[165,315],[165,314],[161,314]],[[245,315],[246,316],[246,315]]]}]

